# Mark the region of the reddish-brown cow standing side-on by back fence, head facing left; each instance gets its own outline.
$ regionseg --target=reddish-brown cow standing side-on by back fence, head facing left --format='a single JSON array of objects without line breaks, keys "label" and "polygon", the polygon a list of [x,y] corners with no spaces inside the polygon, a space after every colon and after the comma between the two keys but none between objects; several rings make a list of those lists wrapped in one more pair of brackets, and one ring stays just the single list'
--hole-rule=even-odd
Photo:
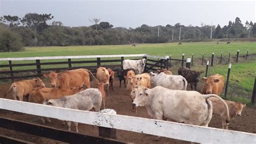
[{"label": "reddish-brown cow standing side-on by back fence, head facing left", "polygon": [[[90,88],[91,84],[89,72],[90,71],[85,68],[79,68],[77,70],[64,71],[60,73],[51,71],[49,74],[45,73],[44,77],[50,78],[51,86],[55,88],[66,88],[70,90],[73,87],[79,87],[83,84],[86,86],[86,88]],[[95,77],[93,76],[93,78]]]}]

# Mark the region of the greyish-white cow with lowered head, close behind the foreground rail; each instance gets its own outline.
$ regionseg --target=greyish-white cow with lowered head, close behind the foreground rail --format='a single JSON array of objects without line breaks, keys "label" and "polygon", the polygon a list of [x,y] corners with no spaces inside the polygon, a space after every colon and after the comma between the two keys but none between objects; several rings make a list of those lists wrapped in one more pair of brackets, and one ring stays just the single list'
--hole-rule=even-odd
[{"label": "greyish-white cow with lowered head, close behind the foreground rail", "polygon": [[[96,112],[100,111],[102,105],[102,93],[97,88],[87,88],[86,90],[74,95],[68,95],[60,99],[45,100],[44,105],[79,109],[90,111],[92,108]],[[76,132],[78,132],[78,123],[74,122]],[[69,131],[71,131],[71,121],[68,121]]]}]

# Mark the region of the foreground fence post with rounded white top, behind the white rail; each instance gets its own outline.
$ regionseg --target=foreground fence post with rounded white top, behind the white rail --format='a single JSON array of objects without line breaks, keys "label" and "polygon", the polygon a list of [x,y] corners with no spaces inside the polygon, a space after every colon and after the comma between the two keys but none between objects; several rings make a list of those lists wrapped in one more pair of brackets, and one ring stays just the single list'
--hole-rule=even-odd
[{"label": "foreground fence post with rounded white top, behind the white rail", "polygon": [[[117,114],[114,109],[103,109],[100,113],[107,113],[107,114]],[[117,129],[114,128],[107,128],[107,127],[99,127],[99,136],[104,138],[110,139],[117,139]]]}]

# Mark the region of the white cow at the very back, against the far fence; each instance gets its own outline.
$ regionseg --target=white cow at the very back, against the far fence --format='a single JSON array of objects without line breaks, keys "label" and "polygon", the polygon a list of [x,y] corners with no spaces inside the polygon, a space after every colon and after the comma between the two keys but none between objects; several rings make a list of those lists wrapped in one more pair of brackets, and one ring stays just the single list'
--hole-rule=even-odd
[{"label": "white cow at the very back, against the far fence", "polygon": [[125,59],[123,61],[123,69],[129,69],[133,68],[134,70],[138,70],[139,73],[143,73],[144,68],[146,64],[146,59],[139,59],[139,60],[130,60],[130,59]]}]

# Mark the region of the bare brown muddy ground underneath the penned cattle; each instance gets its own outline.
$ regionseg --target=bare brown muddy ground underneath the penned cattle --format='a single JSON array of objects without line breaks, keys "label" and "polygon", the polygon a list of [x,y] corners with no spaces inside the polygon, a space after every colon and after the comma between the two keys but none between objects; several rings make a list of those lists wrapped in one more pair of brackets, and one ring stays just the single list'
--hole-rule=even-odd
[{"label": "bare brown muddy ground underneath the penned cattle", "polygon": [[[43,81],[45,81],[46,86],[50,87],[49,85],[50,83],[48,79],[43,79]],[[8,90],[9,86],[10,84],[7,84],[7,83],[0,84],[0,98],[3,97],[4,93]],[[93,81],[91,81],[91,86],[95,87],[95,83]],[[122,83],[122,87],[119,88],[119,80],[117,78],[114,80],[113,87],[114,87],[114,90],[110,91],[111,96],[106,97],[106,108],[114,109],[117,112],[117,114],[150,118],[150,116],[147,114],[145,107],[139,107],[137,113],[132,112],[131,99],[127,95],[127,92],[126,92],[126,89],[124,88],[123,83]],[[190,90],[189,85],[188,85],[188,90]],[[199,85],[199,90],[200,90],[200,85]],[[12,99],[10,94],[8,94],[6,98]],[[233,120],[231,120],[229,129],[234,131],[256,133],[255,113],[256,113],[255,108],[247,106],[242,112],[242,116],[236,116]],[[22,113],[5,111],[3,109],[0,109],[0,116],[42,125],[42,122],[39,119],[39,117],[34,115],[22,114]],[[57,119],[51,119],[51,120],[52,120],[52,123],[50,124],[47,123],[45,125],[50,127],[60,128],[60,129],[68,129],[68,126],[61,125],[61,122],[59,120]],[[215,127],[215,128],[221,128],[220,117],[217,115],[214,115],[209,126]],[[78,124],[78,130],[79,130],[79,133],[95,135],[95,136],[98,135],[98,128],[95,128],[91,125]],[[72,126],[72,131],[75,131],[75,128],[73,126]],[[28,135],[28,134],[11,131],[4,128],[0,128],[0,135],[11,136],[13,138],[36,142],[36,143],[61,143],[51,139]],[[134,142],[134,143],[188,143],[186,141],[174,140],[169,138],[161,138],[159,141],[154,141],[154,139],[156,139],[156,136],[154,135],[134,133],[134,132],[122,131],[122,130],[117,131],[117,139],[121,141]]]}]

